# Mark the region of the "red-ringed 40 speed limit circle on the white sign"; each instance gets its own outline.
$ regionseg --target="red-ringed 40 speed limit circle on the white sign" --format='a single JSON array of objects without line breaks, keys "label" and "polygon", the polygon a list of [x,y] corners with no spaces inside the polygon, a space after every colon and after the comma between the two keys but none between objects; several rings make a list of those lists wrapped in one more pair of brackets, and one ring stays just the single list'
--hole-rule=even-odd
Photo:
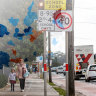
[{"label": "red-ringed 40 speed limit circle on the white sign", "polygon": [[62,30],[72,31],[72,14],[67,12],[61,12],[56,16],[56,26]]}]

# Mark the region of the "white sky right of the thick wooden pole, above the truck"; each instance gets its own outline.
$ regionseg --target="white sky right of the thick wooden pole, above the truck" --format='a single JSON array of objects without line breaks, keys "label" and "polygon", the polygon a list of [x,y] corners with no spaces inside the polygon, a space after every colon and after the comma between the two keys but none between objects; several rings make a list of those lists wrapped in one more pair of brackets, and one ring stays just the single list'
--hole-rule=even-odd
[{"label": "white sky right of the thick wooden pole, above the truck", "polygon": [[[83,3],[82,3],[83,2]],[[74,44],[94,45],[96,52],[96,0],[75,1]]]}]

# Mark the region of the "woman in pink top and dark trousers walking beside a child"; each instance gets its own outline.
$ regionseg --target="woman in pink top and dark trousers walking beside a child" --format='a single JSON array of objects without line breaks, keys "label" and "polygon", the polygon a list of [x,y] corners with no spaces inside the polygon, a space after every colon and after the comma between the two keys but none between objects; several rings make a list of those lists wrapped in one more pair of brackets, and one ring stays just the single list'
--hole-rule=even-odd
[{"label": "woman in pink top and dark trousers walking beside a child", "polygon": [[26,64],[24,63],[23,59],[20,59],[20,63],[17,65],[17,77],[19,78],[20,81],[21,92],[24,91],[25,87],[24,73],[26,73],[26,71],[27,71]]}]

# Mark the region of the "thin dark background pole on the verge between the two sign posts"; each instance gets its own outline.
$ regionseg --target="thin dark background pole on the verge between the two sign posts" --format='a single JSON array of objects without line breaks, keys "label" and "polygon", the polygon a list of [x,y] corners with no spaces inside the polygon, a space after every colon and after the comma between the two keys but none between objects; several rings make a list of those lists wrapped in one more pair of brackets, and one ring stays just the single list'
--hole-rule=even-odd
[{"label": "thin dark background pole on the verge between the two sign posts", "polygon": [[48,66],[49,66],[49,82],[52,82],[50,60],[51,60],[51,38],[50,38],[50,32],[48,32]]}]

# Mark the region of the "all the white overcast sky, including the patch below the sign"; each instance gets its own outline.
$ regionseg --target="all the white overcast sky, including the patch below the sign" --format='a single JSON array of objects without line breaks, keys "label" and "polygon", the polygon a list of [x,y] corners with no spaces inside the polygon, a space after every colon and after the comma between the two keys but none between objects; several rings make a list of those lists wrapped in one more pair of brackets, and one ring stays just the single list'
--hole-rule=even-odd
[{"label": "all the white overcast sky, including the patch below the sign", "polygon": [[[52,32],[51,35],[52,51],[65,52],[65,33]],[[75,0],[74,43],[76,46],[94,45],[96,53],[96,0]]]}]

